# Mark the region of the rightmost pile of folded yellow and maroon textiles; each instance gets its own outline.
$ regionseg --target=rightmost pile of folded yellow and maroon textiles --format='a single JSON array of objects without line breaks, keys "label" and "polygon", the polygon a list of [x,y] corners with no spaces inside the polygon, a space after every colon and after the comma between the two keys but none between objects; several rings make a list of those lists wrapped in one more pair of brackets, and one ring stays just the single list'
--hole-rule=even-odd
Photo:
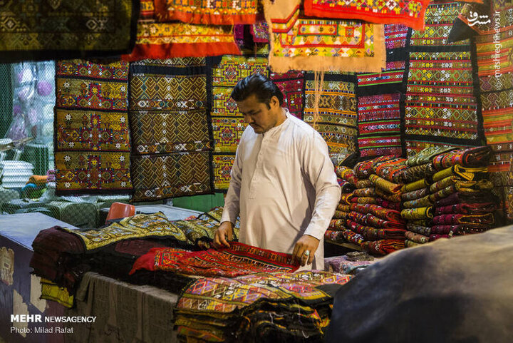
[{"label": "rightmost pile of folded yellow and maroon textiles", "polygon": [[497,199],[487,174],[490,155],[487,146],[427,148],[408,159],[401,212],[408,220],[407,247],[493,227]]}]

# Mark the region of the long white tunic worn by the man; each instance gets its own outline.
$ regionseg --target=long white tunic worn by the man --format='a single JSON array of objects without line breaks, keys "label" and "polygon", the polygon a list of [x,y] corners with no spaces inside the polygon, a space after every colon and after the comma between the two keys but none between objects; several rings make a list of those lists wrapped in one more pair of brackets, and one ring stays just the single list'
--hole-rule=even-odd
[{"label": "long white tunic worn by the man", "polygon": [[292,253],[302,235],[319,242],[314,269],[324,267],[324,232],[341,197],[321,135],[286,112],[266,133],[248,126],[237,148],[221,221],[240,214],[239,242]]}]

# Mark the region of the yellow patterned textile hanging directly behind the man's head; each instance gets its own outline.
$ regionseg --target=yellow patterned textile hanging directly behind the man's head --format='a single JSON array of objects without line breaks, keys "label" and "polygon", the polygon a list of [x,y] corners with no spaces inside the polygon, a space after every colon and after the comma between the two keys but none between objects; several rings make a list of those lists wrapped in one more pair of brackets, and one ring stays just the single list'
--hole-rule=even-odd
[{"label": "yellow patterned textile hanging directly behind the man's head", "polygon": [[[261,73],[269,76],[267,58],[223,56],[212,66],[212,132],[214,135],[214,188],[227,190],[239,140],[247,124],[237,103],[230,97],[233,87],[246,76]],[[291,99],[295,100],[293,94]]]}]

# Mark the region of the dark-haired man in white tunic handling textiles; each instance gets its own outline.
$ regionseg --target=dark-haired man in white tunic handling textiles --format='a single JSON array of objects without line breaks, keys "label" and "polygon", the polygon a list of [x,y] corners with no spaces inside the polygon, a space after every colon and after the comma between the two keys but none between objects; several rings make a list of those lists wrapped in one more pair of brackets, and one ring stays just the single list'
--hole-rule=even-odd
[{"label": "dark-haired man in white tunic handling textiles", "polygon": [[240,242],[291,253],[301,265],[323,269],[323,236],[341,196],[326,142],[281,107],[283,94],[265,76],[239,81],[232,98],[249,126],[214,244],[229,247],[240,213]]}]

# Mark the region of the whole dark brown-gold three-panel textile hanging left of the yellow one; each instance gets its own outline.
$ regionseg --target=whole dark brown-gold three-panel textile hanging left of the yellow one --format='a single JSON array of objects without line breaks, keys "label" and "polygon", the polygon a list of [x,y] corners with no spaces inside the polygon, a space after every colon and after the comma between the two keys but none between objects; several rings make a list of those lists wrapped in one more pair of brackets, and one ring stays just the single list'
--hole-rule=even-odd
[{"label": "whole dark brown-gold three-panel textile hanging left of the yellow one", "polygon": [[204,58],[131,63],[130,124],[135,200],[209,193]]}]

